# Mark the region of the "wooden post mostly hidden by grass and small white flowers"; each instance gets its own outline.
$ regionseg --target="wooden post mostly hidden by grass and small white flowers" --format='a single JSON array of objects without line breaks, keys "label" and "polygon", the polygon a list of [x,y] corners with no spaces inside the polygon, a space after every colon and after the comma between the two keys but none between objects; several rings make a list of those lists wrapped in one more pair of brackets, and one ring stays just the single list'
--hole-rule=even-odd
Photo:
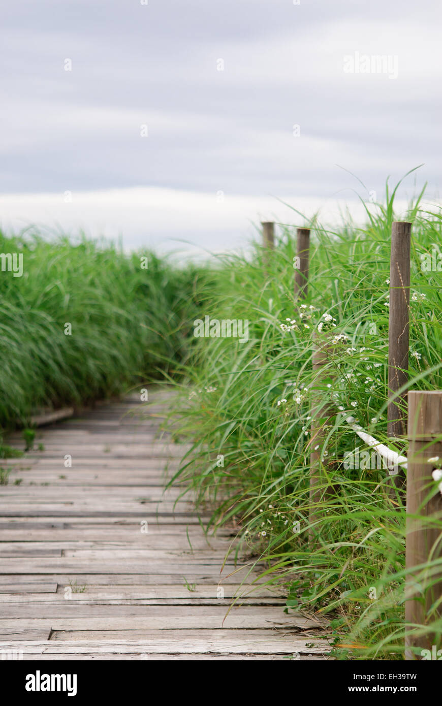
[{"label": "wooden post mostly hidden by grass and small white flowers", "polygon": [[[330,494],[330,486],[325,487],[326,479],[322,470],[321,457],[323,455],[324,441],[328,436],[327,425],[330,419],[336,414],[335,407],[323,402],[323,386],[330,380],[333,382],[333,373],[323,369],[323,366],[330,362],[328,355],[333,351],[333,346],[324,345],[313,348],[312,367],[316,372],[316,379],[313,381],[311,393],[311,436],[310,436],[310,489],[309,489],[309,524],[316,522],[321,517],[320,502]],[[315,390],[315,385],[320,385],[321,389]],[[316,446],[318,448],[316,448]],[[309,530],[309,542],[315,542],[318,530]]]}]

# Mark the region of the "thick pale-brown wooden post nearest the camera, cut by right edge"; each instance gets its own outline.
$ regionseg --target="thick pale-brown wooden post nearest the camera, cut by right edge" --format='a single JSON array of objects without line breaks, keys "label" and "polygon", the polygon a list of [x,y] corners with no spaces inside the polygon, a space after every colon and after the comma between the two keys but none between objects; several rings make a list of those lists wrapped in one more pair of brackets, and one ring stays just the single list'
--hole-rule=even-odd
[{"label": "thick pale-brown wooden post nearest the camera, cut by right edge", "polygon": [[[418,628],[406,628],[405,659],[422,659],[421,650],[430,650],[431,658],[438,649],[440,636],[431,631],[431,621],[442,617],[442,608],[429,616],[431,605],[442,596],[442,566],[414,570],[419,564],[442,558],[442,495],[431,472],[442,462],[442,390],[413,390],[408,393],[408,438],[410,447],[407,463],[407,546],[405,589],[405,621],[425,626],[429,630],[416,634]],[[439,437],[438,441],[435,441]],[[438,456],[441,462],[431,462]],[[433,493],[431,494],[431,489]],[[431,497],[429,498],[429,495]],[[439,521],[437,525],[436,520]],[[433,645],[436,647],[434,648]],[[439,645],[440,646],[440,645]],[[417,650],[417,653],[412,648]],[[442,652],[441,652],[442,654]]]}]

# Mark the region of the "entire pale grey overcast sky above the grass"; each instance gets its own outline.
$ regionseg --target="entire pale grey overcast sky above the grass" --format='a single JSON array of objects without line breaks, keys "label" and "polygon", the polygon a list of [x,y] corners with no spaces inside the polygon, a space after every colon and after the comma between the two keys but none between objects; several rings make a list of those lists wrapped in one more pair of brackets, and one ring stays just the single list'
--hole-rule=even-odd
[{"label": "entire pale grey overcast sky above the grass", "polygon": [[[368,199],[340,167],[381,198],[388,175],[424,163],[417,187],[439,193],[437,0],[20,0],[1,14],[6,227],[220,250],[252,220],[299,221],[277,198],[324,216],[352,189]],[[362,73],[376,55],[390,64]]]}]

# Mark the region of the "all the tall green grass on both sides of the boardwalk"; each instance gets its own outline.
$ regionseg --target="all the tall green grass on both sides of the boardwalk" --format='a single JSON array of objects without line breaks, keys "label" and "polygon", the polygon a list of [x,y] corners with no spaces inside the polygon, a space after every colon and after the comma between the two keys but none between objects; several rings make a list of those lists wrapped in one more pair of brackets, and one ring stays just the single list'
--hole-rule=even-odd
[{"label": "all the tall green grass on both sides of the boardwalk", "polygon": [[[280,227],[271,253],[256,244],[247,256],[225,255],[205,268],[177,268],[153,253],[127,256],[87,239],[0,236],[1,252],[23,253],[22,277],[0,272],[0,426],[26,423],[38,407],[117,395],[138,381],[175,385],[174,433],[192,445],[177,475],[198,501],[213,502],[210,528],[241,520],[239,546],[265,580],[284,582],[287,610],[330,618],[331,648],[341,659],[403,656],[402,498],[388,496],[383,469],[343,461],[364,450],[349,414],[407,455],[405,439],[386,436],[394,196],[367,208],[364,227],[349,221],[330,230],[296,216],[312,229],[304,301],[294,299],[290,227]],[[441,273],[422,270],[421,256],[441,250],[442,216],[417,201],[400,220],[413,222],[409,388],[441,389]],[[193,337],[193,322],[206,315],[248,320],[249,340]],[[311,369],[318,331],[320,342],[335,340],[321,379]],[[312,507],[311,397],[318,393],[338,414],[321,443],[323,496]],[[432,560],[424,572],[437,568]],[[441,640],[436,608],[427,622]]]}]

